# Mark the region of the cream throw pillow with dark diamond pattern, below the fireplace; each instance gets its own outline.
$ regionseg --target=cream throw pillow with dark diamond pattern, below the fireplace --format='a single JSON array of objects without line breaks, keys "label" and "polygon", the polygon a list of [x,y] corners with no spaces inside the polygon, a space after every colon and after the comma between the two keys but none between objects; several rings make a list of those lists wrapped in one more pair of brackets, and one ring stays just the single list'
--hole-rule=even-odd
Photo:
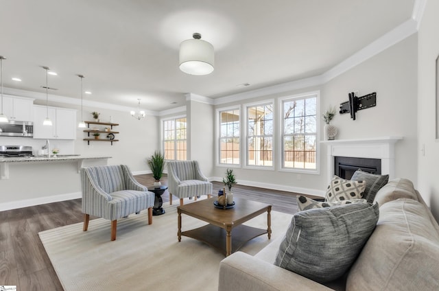
[{"label": "cream throw pillow with dark diamond pattern, below the fireplace", "polygon": [[340,200],[361,199],[366,182],[344,180],[334,176],[327,189],[326,200],[329,202]]}]

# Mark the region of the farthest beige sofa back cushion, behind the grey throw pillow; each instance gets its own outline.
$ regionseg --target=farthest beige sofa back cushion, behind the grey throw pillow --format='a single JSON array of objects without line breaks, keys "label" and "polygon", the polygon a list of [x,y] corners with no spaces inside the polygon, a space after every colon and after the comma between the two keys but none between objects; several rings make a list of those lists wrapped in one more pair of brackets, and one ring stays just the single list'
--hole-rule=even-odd
[{"label": "farthest beige sofa back cushion, behind the grey throw pillow", "polygon": [[389,181],[384,187],[379,189],[375,196],[375,201],[383,206],[384,203],[396,200],[398,198],[410,198],[418,200],[413,183],[405,178],[396,178]]}]

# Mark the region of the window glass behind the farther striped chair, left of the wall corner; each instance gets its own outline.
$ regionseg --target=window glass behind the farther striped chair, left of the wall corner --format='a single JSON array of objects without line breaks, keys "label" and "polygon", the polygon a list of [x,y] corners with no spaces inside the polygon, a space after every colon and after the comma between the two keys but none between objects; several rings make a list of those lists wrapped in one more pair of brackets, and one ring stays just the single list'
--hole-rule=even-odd
[{"label": "window glass behind the farther striped chair, left of the wall corner", "polygon": [[186,117],[163,121],[163,152],[166,160],[187,159]]}]

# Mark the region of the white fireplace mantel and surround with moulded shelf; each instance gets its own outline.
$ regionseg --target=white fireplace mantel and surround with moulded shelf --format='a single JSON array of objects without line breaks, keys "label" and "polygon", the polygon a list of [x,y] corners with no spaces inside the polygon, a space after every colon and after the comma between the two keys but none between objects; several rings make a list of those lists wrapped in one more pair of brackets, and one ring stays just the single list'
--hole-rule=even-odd
[{"label": "white fireplace mantel and surround with moulded shelf", "polygon": [[328,183],[334,176],[334,156],[381,159],[381,174],[394,178],[394,143],[403,137],[377,137],[371,139],[335,139],[321,141],[327,145]]}]

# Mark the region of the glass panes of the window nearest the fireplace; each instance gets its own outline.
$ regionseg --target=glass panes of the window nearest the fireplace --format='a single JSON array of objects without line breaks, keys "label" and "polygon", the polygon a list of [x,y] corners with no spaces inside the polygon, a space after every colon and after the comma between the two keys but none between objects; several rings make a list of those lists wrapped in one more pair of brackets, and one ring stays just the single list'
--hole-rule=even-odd
[{"label": "glass panes of the window nearest the fireplace", "polygon": [[282,167],[316,170],[317,96],[285,99],[282,112]]}]

